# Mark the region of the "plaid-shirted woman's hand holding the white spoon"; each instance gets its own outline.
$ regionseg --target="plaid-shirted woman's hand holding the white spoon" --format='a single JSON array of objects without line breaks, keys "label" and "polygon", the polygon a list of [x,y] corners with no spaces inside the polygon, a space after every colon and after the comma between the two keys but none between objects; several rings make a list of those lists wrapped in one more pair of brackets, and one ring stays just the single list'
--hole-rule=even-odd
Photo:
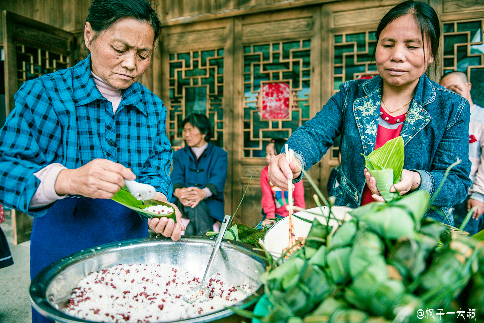
[{"label": "plaid-shirted woman's hand holding the white spoon", "polygon": [[131,169],[107,159],[94,159],[76,169],[62,169],[55,183],[58,195],[78,194],[93,199],[111,199],[124,179],[134,180]]}]

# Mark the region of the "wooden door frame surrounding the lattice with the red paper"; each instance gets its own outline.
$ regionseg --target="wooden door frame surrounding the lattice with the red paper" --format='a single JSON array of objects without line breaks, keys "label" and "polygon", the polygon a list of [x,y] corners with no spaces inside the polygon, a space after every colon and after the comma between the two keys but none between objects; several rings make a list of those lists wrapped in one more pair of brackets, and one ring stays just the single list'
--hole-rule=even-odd
[{"label": "wooden door frame surrounding the lattice with the red paper", "polygon": [[[312,27],[310,30],[307,30],[307,27],[303,27],[302,29],[294,29],[290,30],[290,27],[284,25],[284,21],[296,21],[298,19],[310,18],[312,19]],[[246,189],[252,189],[253,191],[260,191],[260,171],[266,166],[266,161],[264,158],[260,157],[243,157],[243,109],[245,105],[244,100],[244,80],[243,80],[243,73],[244,73],[244,59],[243,59],[243,47],[251,44],[256,43],[271,43],[271,42],[278,42],[278,41],[291,41],[295,39],[310,39],[311,45],[311,81],[310,81],[310,97],[308,100],[310,106],[310,118],[314,117],[316,112],[321,108],[321,95],[319,86],[319,80],[321,77],[321,50],[320,50],[320,6],[312,6],[312,7],[304,7],[304,8],[291,8],[287,10],[280,10],[276,12],[264,13],[264,14],[254,14],[254,15],[247,15],[243,17],[234,18],[234,100],[233,106],[235,118],[234,124],[234,135],[236,134],[236,138],[239,138],[239,144],[237,145],[236,149],[234,150],[234,177],[240,179],[238,183],[234,183],[233,187],[233,200],[232,200],[232,209],[235,210],[239,205],[240,200],[242,199],[242,195]],[[264,25],[268,23],[269,25],[272,22],[280,21],[281,26],[279,27],[279,31],[268,31],[268,33],[264,33],[262,30]],[[260,26],[261,33],[254,34],[247,32],[248,35],[244,35],[244,26]],[[254,31],[253,29],[251,31]],[[241,77],[235,77],[241,76]],[[313,166],[313,168],[309,171],[309,173],[314,177],[314,179],[319,182],[320,177],[320,168],[319,164]],[[252,176],[252,179],[250,177]],[[250,180],[250,184],[249,184]],[[239,186],[237,188],[236,186]],[[320,185],[321,186],[321,185]],[[325,187],[325,186],[324,186]],[[314,190],[311,188],[307,181],[304,181],[304,190],[305,190],[305,200],[306,200],[306,207],[313,206],[311,204],[312,195]],[[250,195],[245,197],[245,199],[249,198]],[[253,214],[248,216],[248,210],[245,208],[250,209],[250,204],[248,205],[246,201],[242,203],[241,210],[238,211],[235,219],[236,221],[252,224],[256,222],[257,216],[260,216],[260,208],[256,211],[254,210]],[[260,201],[258,201],[260,203]],[[313,201],[314,202],[314,201]],[[255,202],[254,202],[255,203]],[[309,204],[308,204],[309,203]],[[246,218],[247,217],[247,218]]]}]

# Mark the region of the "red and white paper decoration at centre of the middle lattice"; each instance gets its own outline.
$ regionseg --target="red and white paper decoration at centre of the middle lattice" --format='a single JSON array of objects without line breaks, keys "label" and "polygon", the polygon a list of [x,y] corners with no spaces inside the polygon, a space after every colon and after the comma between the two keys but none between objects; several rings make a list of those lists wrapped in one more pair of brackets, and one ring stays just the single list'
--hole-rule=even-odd
[{"label": "red and white paper decoration at centre of the middle lattice", "polygon": [[289,116],[290,89],[287,83],[267,83],[262,87],[262,118],[286,119]]}]

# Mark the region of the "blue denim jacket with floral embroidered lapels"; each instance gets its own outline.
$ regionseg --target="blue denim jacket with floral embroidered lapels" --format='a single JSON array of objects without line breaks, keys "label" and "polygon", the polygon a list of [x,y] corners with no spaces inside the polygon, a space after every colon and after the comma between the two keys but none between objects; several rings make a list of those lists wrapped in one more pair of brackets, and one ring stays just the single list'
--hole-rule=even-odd
[{"label": "blue denim jacket with floral embroidered lapels", "polygon": [[[336,205],[358,207],[363,187],[364,158],[375,148],[383,79],[351,80],[341,84],[340,91],[330,98],[316,116],[300,126],[288,139],[290,148],[301,160],[304,169],[316,164],[341,136],[341,183],[333,187]],[[402,127],[405,143],[404,169],[420,173],[418,189],[433,198],[445,170],[456,161],[445,184],[433,201],[441,212],[429,210],[427,216],[454,225],[451,207],[468,195],[469,179],[469,102],[459,94],[420,77]],[[284,149],[283,151],[284,152]],[[299,181],[302,176],[295,179]]]}]

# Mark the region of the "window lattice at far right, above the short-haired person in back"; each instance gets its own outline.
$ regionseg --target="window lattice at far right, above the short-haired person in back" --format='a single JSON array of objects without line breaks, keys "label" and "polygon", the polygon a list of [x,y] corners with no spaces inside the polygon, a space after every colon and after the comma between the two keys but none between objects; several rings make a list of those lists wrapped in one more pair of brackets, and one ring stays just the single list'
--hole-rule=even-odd
[{"label": "window lattice at far right, above the short-haired person in back", "polygon": [[484,105],[484,19],[444,22],[443,73],[460,71],[472,83],[472,101]]}]

